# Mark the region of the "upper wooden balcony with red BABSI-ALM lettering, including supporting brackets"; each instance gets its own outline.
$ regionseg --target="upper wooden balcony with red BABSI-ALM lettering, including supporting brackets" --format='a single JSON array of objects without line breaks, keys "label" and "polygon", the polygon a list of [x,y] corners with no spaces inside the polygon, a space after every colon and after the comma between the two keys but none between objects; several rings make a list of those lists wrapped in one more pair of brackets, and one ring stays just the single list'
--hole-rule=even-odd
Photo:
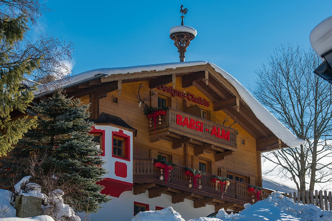
[{"label": "upper wooden balcony with red BABSI-ALM lettering, including supporting brackets", "polygon": [[170,108],[160,115],[148,115],[148,121],[150,142],[168,140],[172,142],[173,149],[190,143],[197,147],[195,155],[207,149],[214,154],[231,154],[237,149],[237,130],[188,113]]}]

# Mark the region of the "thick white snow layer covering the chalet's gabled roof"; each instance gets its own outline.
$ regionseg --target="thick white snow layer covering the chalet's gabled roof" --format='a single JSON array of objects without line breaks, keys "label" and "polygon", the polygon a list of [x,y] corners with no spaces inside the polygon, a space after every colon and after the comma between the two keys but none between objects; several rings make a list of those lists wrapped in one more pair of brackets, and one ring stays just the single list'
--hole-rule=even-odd
[{"label": "thick white snow layer covering the chalet's gabled roof", "polygon": [[[95,78],[102,76],[110,76],[114,74],[130,74],[139,73],[143,71],[163,71],[166,69],[175,69],[178,67],[190,67],[196,65],[209,64],[216,72],[221,74],[239,93],[244,103],[253,111],[256,117],[268,127],[279,139],[286,143],[290,147],[296,147],[304,143],[304,140],[295,137],[270,111],[268,111],[261,103],[259,103],[250,92],[243,87],[233,76],[222,70],[215,64],[207,61],[191,61],[191,62],[177,62],[177,63],[165,63],[165,64],[152,64],[152,65],[140,65],[132,67],[117,67],[117,68],[100,68],[74,75],[69,80],[64,81],[61,85],[63,88],[68,88],[80,84],[81,82],[87,82]],[[35,96],[40,96],[45,92],[38,91]]]}]

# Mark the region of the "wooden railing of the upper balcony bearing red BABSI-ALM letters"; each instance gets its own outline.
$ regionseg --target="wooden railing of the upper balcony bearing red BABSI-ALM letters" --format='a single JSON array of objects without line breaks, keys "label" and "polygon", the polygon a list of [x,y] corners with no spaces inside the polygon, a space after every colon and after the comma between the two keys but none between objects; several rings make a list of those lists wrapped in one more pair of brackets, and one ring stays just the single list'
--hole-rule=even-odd
[{"label": "wooden railing of the upper balcony bearing red BABSI-ALM letters", "polygon": [[199,139],[207,143],[211,141],[211,144],[223,144],[232,149],[236,148],[237,130],[233,128],[171,108],[166,111],[166,115],[161,116],[161,119],[157,119],[156,126],[154,122],[149,123],[149,131],[158,132],[158,130],[168,127],[173,129],[173,132],[175,130],[183,136]]}]

